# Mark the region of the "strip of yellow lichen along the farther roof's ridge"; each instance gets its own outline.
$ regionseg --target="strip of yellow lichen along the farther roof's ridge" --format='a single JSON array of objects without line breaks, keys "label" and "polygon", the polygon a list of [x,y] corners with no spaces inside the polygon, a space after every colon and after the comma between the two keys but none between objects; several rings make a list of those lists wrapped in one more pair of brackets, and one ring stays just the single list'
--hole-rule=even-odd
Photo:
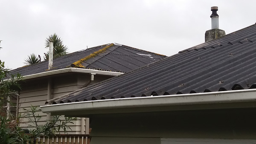
[{"label": "strip of yellow lichen along the farther roof's ridge", "polygon": [[81,68],[84,68],[84,66],[82,65],[82,62],[90,59],[90,58],[93,58],[93,57],[96,57],[98,54],[102,53],[102,52],[105,52],[108,48],[110,48],[111,46],[113,46],[114,44],[111,43],[110,45],[108,46],[104,46],[102,49],[99,49],[98,51],[96,52],[93,52],[91,53],[90,55],[84,57],[84,58],[81,58],[79,60],[77,60],[76,62],[72,63],[72,65],[75,65],[76,67],[81,67]]}]

